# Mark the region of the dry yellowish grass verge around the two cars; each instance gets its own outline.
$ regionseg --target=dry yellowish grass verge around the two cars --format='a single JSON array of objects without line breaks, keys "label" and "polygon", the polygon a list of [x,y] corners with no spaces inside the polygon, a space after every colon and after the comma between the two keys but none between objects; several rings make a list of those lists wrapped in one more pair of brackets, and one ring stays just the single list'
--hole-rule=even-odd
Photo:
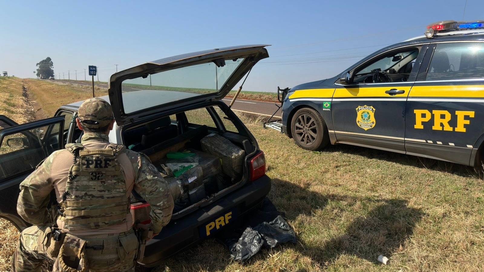
[{"label": "dry yellowish grass verge around the two cars", "polygon": [[[22,111],[22,86],[36,116],[91,95],[89,87],[1,79],[0,101],[10,102],[0,102],[0,114],[19,122],[33,118]],[[260,120],[241,119],[265,152],[269,198],[298,242],[263,249],[240,264],[207,240],[156,271],[484,270],[484,182],[473,169],[349,145],[305,151]],[[0,236],[0,271],[9,271],[18,232],[0,219]],[[388,265],[378,263],[380,254]]]}]

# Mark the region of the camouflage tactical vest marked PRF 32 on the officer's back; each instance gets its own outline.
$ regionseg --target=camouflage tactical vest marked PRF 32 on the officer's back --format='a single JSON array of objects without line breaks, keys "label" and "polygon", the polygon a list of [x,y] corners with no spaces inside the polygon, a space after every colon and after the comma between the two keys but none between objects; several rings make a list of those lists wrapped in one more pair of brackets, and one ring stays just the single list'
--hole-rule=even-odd
[{"label": "camouflage tactical vest marked PRF 32 on the officer's back", "polygon": [[82,144],[67,144],[74,156],[59,219],[69,230],[94,229],[126,222],[129,198],[126,178],[118,162],[124,146],[109,144],[106,149],[86,149]]}]

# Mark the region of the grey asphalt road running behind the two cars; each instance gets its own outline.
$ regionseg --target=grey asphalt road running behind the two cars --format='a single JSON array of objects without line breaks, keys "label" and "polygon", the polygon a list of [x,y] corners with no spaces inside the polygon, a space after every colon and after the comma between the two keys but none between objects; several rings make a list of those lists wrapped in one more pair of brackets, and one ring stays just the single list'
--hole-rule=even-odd
[{"label": "grey asphalt road running behind the two cars", "polygon": [[[57,82],[64,82],[70,84],[78,84],[78,85],[85,85],[85,86],[92,86],[91,83],[85,82],[76,82],[73,83],[72,81],[63,81],[63,80],[56,80]],[[106,84],[97,84],[94,83],[96,87],[106,89]],[[133,91],[139,91],[140,89],[133,89]],[[225,104],[229,105],[232,98],[224,98],[222,99]],[[270,117],[274,111],[277,109],[274,102],[263,102],[263,101],[254,101],[254,100],[246,100],[246,99],[237,99],[232,106],[232,110],[243,112],[246,114],[257,114],[262,116]],[[281,110],[279,109],[274,118],[281,118]]]}]

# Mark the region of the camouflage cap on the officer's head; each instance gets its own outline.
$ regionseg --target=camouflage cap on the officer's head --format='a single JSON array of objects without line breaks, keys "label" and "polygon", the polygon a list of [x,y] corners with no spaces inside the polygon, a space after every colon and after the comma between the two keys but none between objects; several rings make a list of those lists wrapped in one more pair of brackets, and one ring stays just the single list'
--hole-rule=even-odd
[{"label": "camouflage cap on the officer's head", "polygon": [[82,102],[77,111],[77,117],[83,127],[101,128],[113,120],[111,105],[101,98],[91,98]]}]

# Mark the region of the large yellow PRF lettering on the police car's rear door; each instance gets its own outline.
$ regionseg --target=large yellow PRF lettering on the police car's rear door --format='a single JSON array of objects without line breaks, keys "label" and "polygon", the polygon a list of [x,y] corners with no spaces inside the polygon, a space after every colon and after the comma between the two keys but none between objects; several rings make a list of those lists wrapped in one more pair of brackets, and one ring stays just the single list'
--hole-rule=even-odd
[{"label": "large yellow PRF lettering on the police car's rear door", "polygon": [[[413,127],[418,129],[423,129],[423,123],[430,121],[433,117],[433,130],[466,132],[464,125],[470,123],[470,120],[466,118],[474,118],[474,111],[467,110],[456,110],[454,115],[447,110],[432,110],[430,112],[426,109],[414,109],[413,112],[415,113],[415,125]],[[449,125],[449,121],[453,118],[457,119],[455,128]]]}]

